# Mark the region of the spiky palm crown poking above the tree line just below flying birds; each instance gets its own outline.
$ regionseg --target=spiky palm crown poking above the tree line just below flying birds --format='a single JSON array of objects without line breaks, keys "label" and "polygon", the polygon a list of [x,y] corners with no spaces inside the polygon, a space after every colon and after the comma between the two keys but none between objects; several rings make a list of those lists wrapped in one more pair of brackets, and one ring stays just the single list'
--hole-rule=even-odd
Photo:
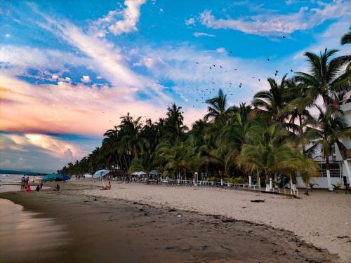
[{"label": "spiky palm crown poking above the tree line just below flying birds", "polygon": [[221,121],[223,123],[227,121],[230,109],[227,109],[227,95],[223,93],[221,88],[218,91],[218,96],[206,100],[206,103],[209,105],[207,107],[208,113],[204,116],[205,121]]}]

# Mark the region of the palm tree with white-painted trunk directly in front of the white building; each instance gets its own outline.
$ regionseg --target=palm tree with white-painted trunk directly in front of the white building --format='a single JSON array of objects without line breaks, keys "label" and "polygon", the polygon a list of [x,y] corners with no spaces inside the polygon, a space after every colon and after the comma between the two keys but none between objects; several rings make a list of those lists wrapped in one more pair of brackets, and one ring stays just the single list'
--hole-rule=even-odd
[{"label": "palm tree with white-painted trunk directly in front of the white building", "polygon": [[[312,142],[312,147],[307,149],[307,151],[315,151],[320,147],[322,151],[322,157],[326,160],[326,177],[328,180],[328,187],[330,191],[333,191],[330,178],[330,164],[329,156],[335,150],[335,145],[340,149],[340,153],[345,159],[345,145],[343,144],[343,139],[351,138],[351,129],[348,128],[347,123],[343,116],[333,113],[333,109],[328,107],[326,110],[322,107],[317,106],[319,110],[319,117],[316,127],[310,127],[307,130],[307,137]],[[347,161],[346,165],[347,165]],[[349,174],[349,180],[351,179]]]}]

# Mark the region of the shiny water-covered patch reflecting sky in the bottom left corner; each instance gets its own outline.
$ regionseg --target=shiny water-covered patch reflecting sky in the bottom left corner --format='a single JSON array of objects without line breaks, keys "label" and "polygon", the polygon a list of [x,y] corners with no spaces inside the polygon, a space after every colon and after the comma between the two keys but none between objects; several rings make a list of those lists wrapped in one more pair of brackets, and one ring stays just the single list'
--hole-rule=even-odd
[{"label": "shiny water-covered patch reflecting sky in the bottom left corner", "polygon": [[63,226],[0,198],[0,262],[55,257],[67,242]]}]

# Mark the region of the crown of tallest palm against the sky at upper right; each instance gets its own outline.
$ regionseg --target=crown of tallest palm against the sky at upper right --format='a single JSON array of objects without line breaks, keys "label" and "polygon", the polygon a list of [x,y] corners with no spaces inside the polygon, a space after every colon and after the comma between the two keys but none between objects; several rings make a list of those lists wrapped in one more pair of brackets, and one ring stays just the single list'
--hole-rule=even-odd
[{"label": "crown of tallest palm against the sky at upper right", "polygon": [[319,55],[306,52],[305,57],[310,64],[310,74],[296,73],[296,80],[308,87],[308,96],[315,101],[321,95],[325,107],[332,104],[335,93],[351,89],[351,72],[340,73],[344,65],[350,62],[351,56],[343,55],[332,58],[337,52],[338,50],[327,49]]}]

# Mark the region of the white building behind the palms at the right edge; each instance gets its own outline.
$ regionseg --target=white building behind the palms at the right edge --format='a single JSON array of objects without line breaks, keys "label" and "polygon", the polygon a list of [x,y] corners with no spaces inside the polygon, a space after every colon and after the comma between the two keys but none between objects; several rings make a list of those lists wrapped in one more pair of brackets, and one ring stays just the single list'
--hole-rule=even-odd
[{"label": "white building behind the palms at the right edge", "polygon": [[[347,124],[351,126],[351,98],[340,102],[340,109],[344,112],[344,117],[347,121]],[[351,140],[346,140],[343,142],[343,144],[345,147],[347,147],[347,160],[343,160],[338,147],[336,147],[335,154],[331,156],[329,160],[331,167],[331,184],[340,183],[344,186],[345,181],[348,184],[351,183]],[[324,159],[322,159],[322,157],[317,157],[315,160],[320,165],[320,176],[315,177],[312,180],[312,183],[317,184],[314,186],[314,188],[328,188],[328,180],[326,177],[326,162]],[[298,187],[305,187],[305,183],[301,177],[297,177],[296,180]]]}]

